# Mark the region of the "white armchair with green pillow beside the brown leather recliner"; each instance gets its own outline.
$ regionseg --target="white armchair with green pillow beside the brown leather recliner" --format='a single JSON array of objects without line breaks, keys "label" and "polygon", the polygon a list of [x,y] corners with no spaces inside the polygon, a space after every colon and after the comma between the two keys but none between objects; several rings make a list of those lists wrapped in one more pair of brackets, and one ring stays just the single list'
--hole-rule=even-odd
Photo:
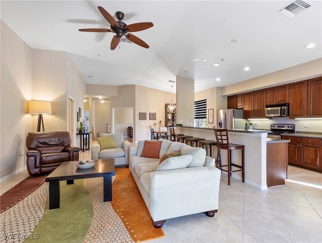
[{"label": "white armchair with green pillow beside the brown leather recliner", "polygon": [[115,165],[129,164],[129,148],[131,143],[123,139],[122,133],[101,133],[100,137],[113,136],[117,148],[103,149],[98,141],[91,143],[91,157],[92,159],[114,159]]}]

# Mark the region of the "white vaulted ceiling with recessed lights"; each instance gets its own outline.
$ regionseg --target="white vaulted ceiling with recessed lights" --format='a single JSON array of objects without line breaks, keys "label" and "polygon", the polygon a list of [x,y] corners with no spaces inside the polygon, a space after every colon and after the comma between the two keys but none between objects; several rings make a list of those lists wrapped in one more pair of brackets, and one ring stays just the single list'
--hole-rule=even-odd
[{"label": "white vaulted ceiling with recessed lights", "polygon": [[[290,2],[1,1],[1,19],[32,48],[70,53],[88,84],[171,92],[168,81],[182,76],[199,92],[321,58],[322,2],[305,1],[311,7],[289,19],[277,11]],[[134,33],[150,48],[121,43],[110,50],[113,33],[79,32],[110,28],[97,6],[123,12],[126,24],[152,22]],[[310,42],[317,46],[305,48]]]}]

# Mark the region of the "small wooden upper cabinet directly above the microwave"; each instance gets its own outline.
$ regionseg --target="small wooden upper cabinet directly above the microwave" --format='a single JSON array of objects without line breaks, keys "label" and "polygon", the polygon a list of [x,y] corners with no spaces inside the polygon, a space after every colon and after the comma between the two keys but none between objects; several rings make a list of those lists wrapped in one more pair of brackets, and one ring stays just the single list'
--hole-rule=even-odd
[{"label": "small wooden upper cabinet directly above the microwave", "polygon": [[288,103],[288,84],[266,89],[266,104]]}]

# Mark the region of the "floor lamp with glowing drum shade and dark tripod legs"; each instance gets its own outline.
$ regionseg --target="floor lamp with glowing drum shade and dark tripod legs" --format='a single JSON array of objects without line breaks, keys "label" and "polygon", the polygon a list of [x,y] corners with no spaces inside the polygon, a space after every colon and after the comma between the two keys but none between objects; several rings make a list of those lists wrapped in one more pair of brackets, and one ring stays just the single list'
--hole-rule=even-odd
[{"label": "floor lamp with glowing drum shade and dark tripod legs", "polygon": [[40,132],[40,124],[42,125],[42,131],[45,132],[42,115],[51,114],[51,102],[45,100],[30,100],[28,113],[38,114],[37,132]]}]

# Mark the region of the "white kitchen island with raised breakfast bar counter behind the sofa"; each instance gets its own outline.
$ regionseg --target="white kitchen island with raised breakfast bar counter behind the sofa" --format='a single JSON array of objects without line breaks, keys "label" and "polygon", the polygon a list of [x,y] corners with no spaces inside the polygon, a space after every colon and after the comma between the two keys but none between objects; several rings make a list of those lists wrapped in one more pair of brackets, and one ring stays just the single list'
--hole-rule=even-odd
[{"label": "white kitchen island with raised breakfast bar counter behind the sofa", "polygon": [[[267,187],[268,187],[267,145],[268,144],[287,145],[288,141],[268,139],[267,134],[270,132],[269,130],[244,130],[244,129],[229,130],[228,129],[228,132],[229,132],[229,142],[245,145],[245,183],[261,190],[267,190]],[[182,133],[185,135],[204,138],[207,140],[216,140],[215,134],[212,128],[195,128],[195,127],[177,126],[176,133]],[[276,147],[276,146],[278,147],[278,145],[275,145],[273,147]],[[287,149],[285,151],[283,149],[279,151],[280,153],[283,153],[287,158]],[[241,152],[238,150],[232,151],[231,157],[234,163],[241,164],[240,153]],[[212,154],[213,154],[213,157],[216,157],[217,148],[214,148],[214,151]],[[221,159],[223,160],[224,163],[226,162],[224,161],[224,159],[226,158],[227,158],[226,151],[222,150]],[[287,167],[287,160],[286,160],[286,167]],[[285,172],[285,169],[281,169],[281,170],[284,171],[284,172],[281,172],[281,173],[284,173],[283,176],[287,176],[287,171]],[[274,173],[277,173],[276,169]],[[241,172],[232,173],[231,176],[241,180]]]}]

